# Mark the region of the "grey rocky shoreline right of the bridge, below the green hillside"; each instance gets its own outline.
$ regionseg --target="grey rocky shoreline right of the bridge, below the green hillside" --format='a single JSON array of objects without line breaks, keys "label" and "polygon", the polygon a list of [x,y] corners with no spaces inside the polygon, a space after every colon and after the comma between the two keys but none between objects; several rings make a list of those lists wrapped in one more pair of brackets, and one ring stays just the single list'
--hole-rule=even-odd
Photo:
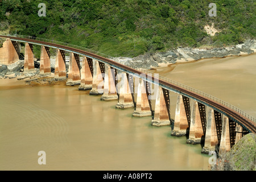
[{"label": "grey rocky shoreline right of the bridge, below the green hillside", "polygon": [[256,40],[246,40],[243,44],[221,48],[177,48],[166,52],[146,53],[137,57],[114,57],[113,60],[134,69],[151,69],[161,65],[195,61],[207,58],[249,55],[256,52]]}]

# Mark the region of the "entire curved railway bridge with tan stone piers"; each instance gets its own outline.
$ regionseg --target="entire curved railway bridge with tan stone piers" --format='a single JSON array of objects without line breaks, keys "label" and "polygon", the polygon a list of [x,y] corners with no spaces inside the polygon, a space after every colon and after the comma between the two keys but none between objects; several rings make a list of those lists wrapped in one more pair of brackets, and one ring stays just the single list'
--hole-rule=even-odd
[{"label": "entire curved railway bridge with tan stone piers", "polygon": [[[217,152],[224,154],[243,135],[256,133],[256,119],[241,109],[150,71],[127,67],[111,57],[67,43],[23,35],[0,35],[0,38],[6,39],[0,48],[0,64],[18,61],[19,45],[24,43],[24,73],[34,72],[33,45],[38,45],[40,75],[48,76],[51,75],[49,50],[56,49],[56,80],[67,80],[67,85],[78,84],[79,90],[90,90],[90,94],[101,95],[104,101],[117,100],[116,108],[134,107],[133,116],[151,116],[152,126],[171,125],[171,135],[186,135],[187,143],[203,144],[202,152],[217,148]],[[66,52],[69,53],[68,72]],[[174,119],[170,114],[170,92],[177,94]]]}]

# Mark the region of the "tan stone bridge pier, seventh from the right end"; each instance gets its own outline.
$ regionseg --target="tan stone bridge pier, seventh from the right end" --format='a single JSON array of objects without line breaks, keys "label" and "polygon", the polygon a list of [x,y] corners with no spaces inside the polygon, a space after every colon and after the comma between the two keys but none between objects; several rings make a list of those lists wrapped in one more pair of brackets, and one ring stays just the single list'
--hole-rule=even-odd
[{"label": "tan stone bridge pier, seventh from the right end", "polygon": [[147,82],[139,80],[136,108],[133,112],[134,117],[144,117],[152,115],[150,102],[147,96]]}]

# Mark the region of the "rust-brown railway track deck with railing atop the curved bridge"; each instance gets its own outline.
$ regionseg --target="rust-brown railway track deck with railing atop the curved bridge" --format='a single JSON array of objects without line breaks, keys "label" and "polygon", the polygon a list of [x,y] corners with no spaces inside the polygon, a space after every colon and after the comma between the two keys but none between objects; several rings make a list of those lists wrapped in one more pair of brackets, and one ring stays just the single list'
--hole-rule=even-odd
[{"label": "rust-brown railway track deck with railing atop the curved bridge", "polygon": [[[149,71],[144,71],[144,72],[138,71],[136,69],[127,67],[126,65],[123,65],[121,63],[117,63],[116,61],[108,59],[104,56],[100,56],[100,55],[97,55],[96,53],[91,53],[91,52],[82,50],[84,48],[80,49],[79,46],[73,46],[71,44],[67,44],[68,46],[64,46],[61,44],[66,44],[66,43],[57,42],[59,44],[56,44],[56,43],[53,43],[55,41],[51,41],[51,40],[48,40],[48,42],[42,41],[42,40],[47,40],[47,39],[35,40],[32,37],[29,37],[29,36],[26,36],[26,37],[27,38],[19,38],[19,37],[15,37],[15,36],[0,35],[0,38],[10,38],[11,40],[35,43],[35,44],[44,45],[44,46],[51,46],[51,47],[56,47],[59,49],[68,50],[70,52],[80,53],[81,55],[86,55],[88,57],[92,57],[92,58],[100,60],[100,61],[105,61],[108,64],[115,65],[115,67],[122,68],[121,70],[125,70],[128,73],[131,72],[131,73],[138,74],[145,80],[148,80],[148,78],[153,80],[153,78],[155,78],[155,76],[153,76],[154,73],[151,73]],[[36,38],[36,39],[38,39],[38,38]],[[143,76],[143,74],[144,74],[144,76]],[[210,96],[207,93],[203,93],[200,90],[190,88],[189,86],[180,84],[176,81],[172,81],[168,78],[159,76],[158,81],[159,81],[159,84],[162,84],[163,86],[166,86],[167,88],[172,88],[174,90],[177,90],[178,92],[180,92],[183,95],[195,98],[196,100],[203,102],[203,104],[204,103],[208,104],[208,105],[212,106],[213,108],[222,111],[222,113],[227,115],[229,118],[236,120],[240,125],[244,126],[250,132],[256,133],[256,122],[255,122],[256,119],[251,117],[249,114],[246,114],[241,109],[238,109],[237,107],[232,106],[216,97]],[[234,109],[236,109],[236,110],[234,110]]]}]

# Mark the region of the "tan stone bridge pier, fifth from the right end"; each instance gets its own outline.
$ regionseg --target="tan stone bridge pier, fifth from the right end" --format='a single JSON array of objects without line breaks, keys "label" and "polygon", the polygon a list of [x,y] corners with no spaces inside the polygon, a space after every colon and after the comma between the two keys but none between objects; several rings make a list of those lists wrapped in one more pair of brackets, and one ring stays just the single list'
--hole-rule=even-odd
[{"label": "tan stone bridge pier, fifth from the right end", "polygon": [[177,104],[175,111],[174,129],[171,131],[173,136],[184,136],[189,133],[190,125],[190,105],[189,98],[177,96]]}]

